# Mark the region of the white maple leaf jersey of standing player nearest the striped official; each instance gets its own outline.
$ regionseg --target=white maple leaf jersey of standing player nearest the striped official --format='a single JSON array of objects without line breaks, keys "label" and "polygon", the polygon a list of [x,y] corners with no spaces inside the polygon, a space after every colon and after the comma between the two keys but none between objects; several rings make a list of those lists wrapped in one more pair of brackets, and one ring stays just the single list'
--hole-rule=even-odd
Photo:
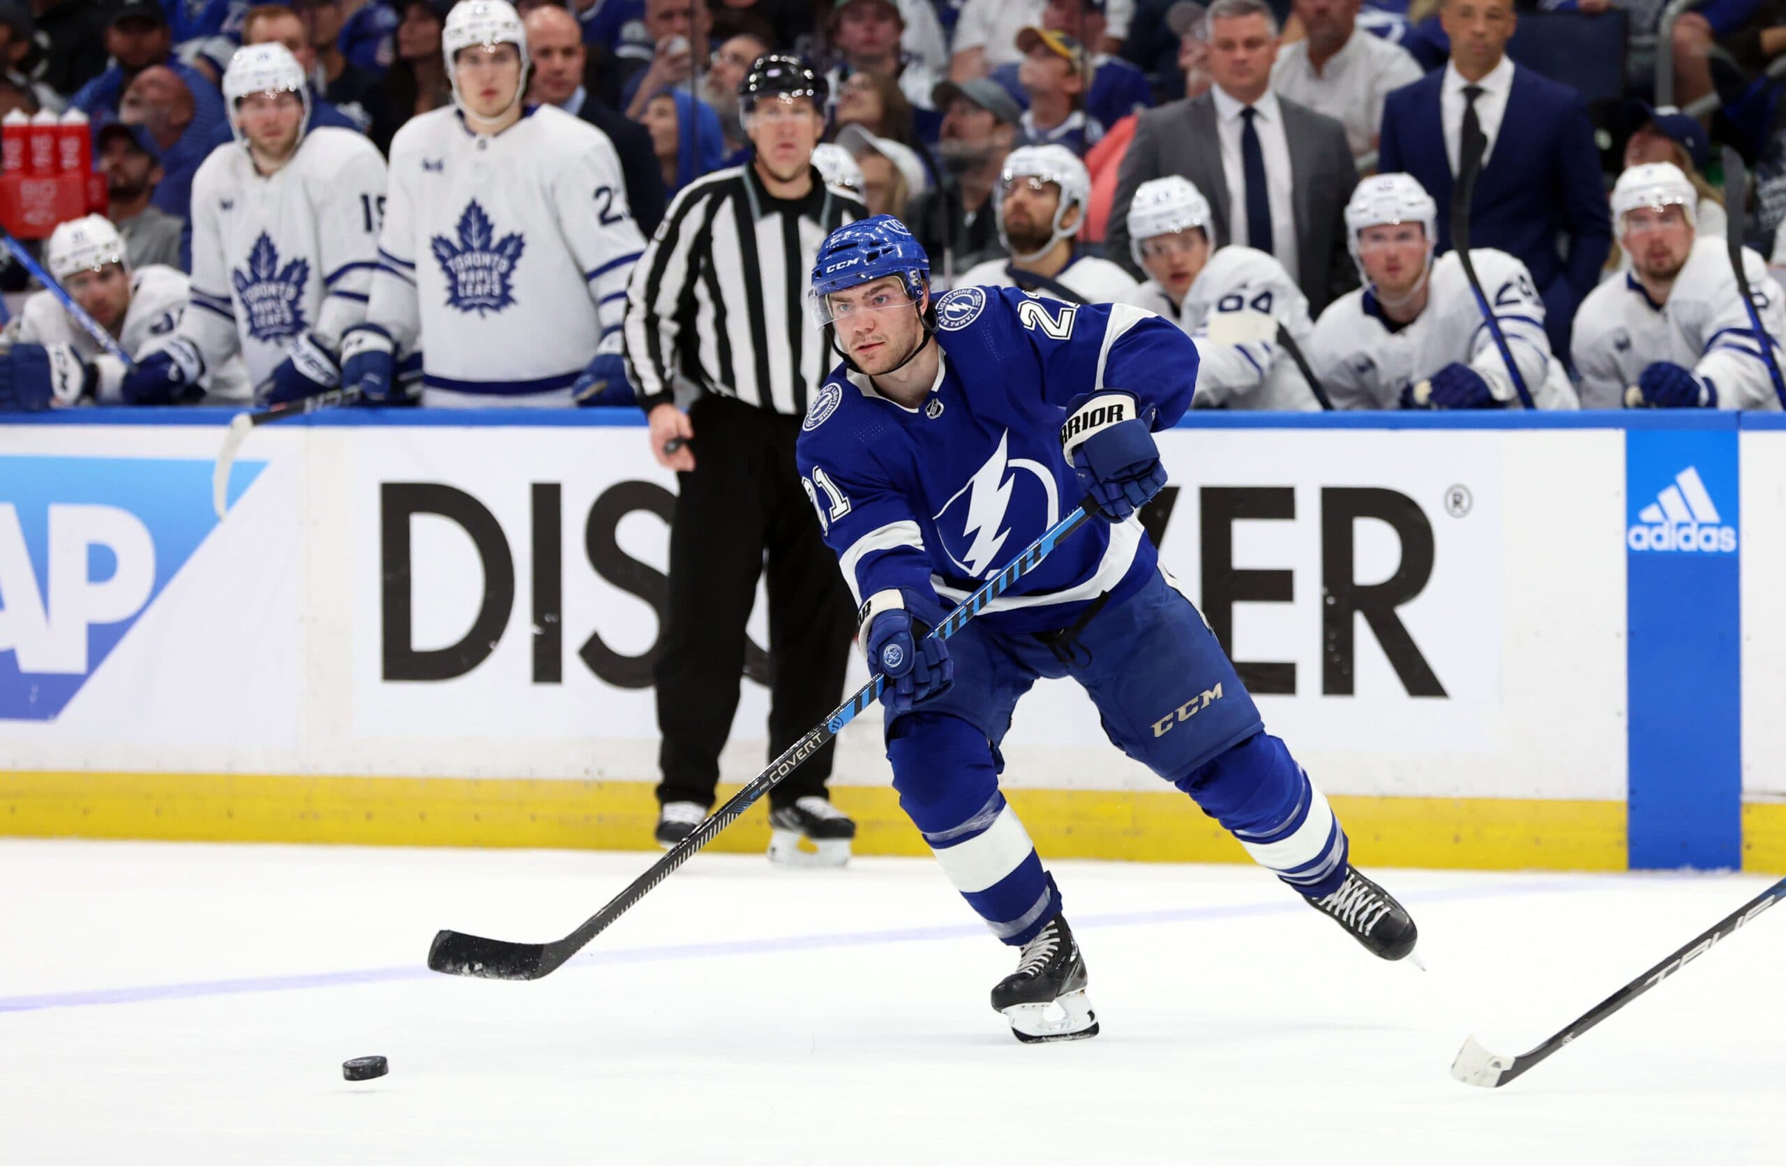
[{"label": "white maple leaf jersey of standing player nearest the striped official", "polygon": [[643,250],[598,129],[536,105],[473,134],[436,109],[391,141],[366,321],[421,350],[425,405],[570,405],[597,345],[618,352]]}]

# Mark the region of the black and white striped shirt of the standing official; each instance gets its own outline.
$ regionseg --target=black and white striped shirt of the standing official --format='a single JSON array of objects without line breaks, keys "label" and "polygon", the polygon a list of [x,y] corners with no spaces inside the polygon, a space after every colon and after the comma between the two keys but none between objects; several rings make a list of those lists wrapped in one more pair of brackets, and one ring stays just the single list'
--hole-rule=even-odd
[{"label": "black and white striped shirt of the standing official", "polygon": [[677,384],[800,416],[838,355],[805,305],[818,245],[868,218],[813,171],[773,198],[750,164],[697,179],[670,204],[627,286],[627,377],[647,411]]}]

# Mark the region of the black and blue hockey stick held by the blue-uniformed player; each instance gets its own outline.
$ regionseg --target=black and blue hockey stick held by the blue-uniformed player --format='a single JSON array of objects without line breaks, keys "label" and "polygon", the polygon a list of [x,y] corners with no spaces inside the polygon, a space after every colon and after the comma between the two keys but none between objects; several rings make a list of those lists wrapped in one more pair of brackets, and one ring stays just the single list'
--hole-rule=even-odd
[{"label": "black and blue hockey stick held by the blue-uniformed player", "polygon": [[[1075,507],[1072,514],[1050,527],[1016,559],[1006,564],[997,577],[986,580],[979,591],[961,600],[961,605],[948,612],[943,621],[936,625],[931,636],[948,639],[959,632],[968,620],[984,611],[986,605],[998,598],[1011,584],[1034,571],[1048,552],[1086,523],[1088,516],[1089,514],[1084,505]],[[486,980],[538,980],[543,975],[550,975],[559,968],[559,964],[582,950],[586,943],[607,930],[607,927],[623,916],[634,904],[650,895],[650,891],[675,873],[679,866],[695,857],[695,852],[718,837],[720,830],[732,825],[732,821],[750,809],[757,798],[766,795],[780,784],[782,779],[793,773],[802,761],[816,754],[820,746],[838,736],[845,725],[855,720],[863,709],[872,705],[880,696],[880,687],[884,684],[886,679],[880,673],[870,677],[868,684],[857,689],[854,696],[832,709],[823,725],[814,725],[804,737],[789,745],[780,757],[772,761],[766,770],[750,779],[750,782],[732,795],[725,805],[716,809],[705,821],[695,827],[693,834],[672,846],[664,857],[652,862],[650,870],[634,879],[625,891],[616,895],[605,907],[589,916],[582,927],[572,934],[552,943],[507,943],[504,939],[482,939],[479,936],[466,936],[464,932],[443,930],[434,936],[434,943],[429,946],[429,968],[434,971],[446,971],[450,975],[472,975]]]}]

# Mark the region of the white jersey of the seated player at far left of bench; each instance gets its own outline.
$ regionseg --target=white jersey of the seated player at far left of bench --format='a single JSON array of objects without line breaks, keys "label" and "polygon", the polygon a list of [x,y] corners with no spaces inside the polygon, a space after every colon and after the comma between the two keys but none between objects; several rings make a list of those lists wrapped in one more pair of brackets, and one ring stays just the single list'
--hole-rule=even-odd
[{"label": "white jersey of the seated player at far left of bench", "polygon": [[[130,354],[132,361],[141,361],[148,354],[164,348],[180,329],[180,320],[188,314],[191,280],[186,271],[152,262],[130,270],[130,307],[125,309],[123,327],[118,330],[118,346]],[[68,345],[75,357],[98,370],[98,400],[118,404],[118,389],[123,384],[123,362],[100,348],[100,343],[88,336],[86,329],[68,318],[63,302],[48,291],[38,291],[25,300],[18,320],[7,327],[7,337],[21,345]],[[216,364],[205,362],[205,375],[198,386],[205,391],[205,402],[243,402],[254,393],[248,370],[241,357],[230,357]]]}]

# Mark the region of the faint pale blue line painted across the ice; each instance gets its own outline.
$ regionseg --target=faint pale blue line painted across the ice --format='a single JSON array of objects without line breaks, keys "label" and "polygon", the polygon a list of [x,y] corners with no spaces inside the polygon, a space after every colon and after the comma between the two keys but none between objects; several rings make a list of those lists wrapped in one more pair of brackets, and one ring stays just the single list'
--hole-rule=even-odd
[{"label": "faint pale blue line painted across the ice", "polygon": [[[1470,898],[1504,898],[1509,895],[1548,895],[1556,891],[1584,891],[1597,886],[1586,879],[1559,879],[1545,882],[1506,882],[1486,887],[1457,887],[1431,895],[1409,896],[1413,904],[1459,902]],[[1266,904],[1232,904],[1222,907],[1172,907],[1164,911],[1122,911],[1075,918],[1079,930],[1098,927],[1147,927],[1161,923],[1193,923],[1213,920],[1239,920],[1261,914],[1300,911],[1295,898]],[[906,927],[877,932],[843,932],[814,936],[777,936],[770,939],[729,939],[722,943],[673,943],[650,948],[618,948],[584,952],[568,966],[591,968],[602,964],[647,964],[677,959],[709,959],[725,955],[770,955],[780,952],[807,952],[814,948],[877,946],[884,943],[927,943],[938,939],[966,939],[984,936],[982,923],[952,923],[947,927]],[[0,1012],[36,1012],[43,1009],[79,1009],[96,1004],[143,1004],[150,1000],[189,1000],[195,996],[229,996],[238,993],[298,991],[305,987],[339,987],[345,984],[388,984],[391,980],[423,980],[436,973],[421,964],[402,968],[361,968],[352,971],[314,971],[309,975],[268,975],[238,980],[196,980],[191,984],[139,984],[132,987],[100,987],[75,993],[43,993],[36,996],[0,996]]]}]

